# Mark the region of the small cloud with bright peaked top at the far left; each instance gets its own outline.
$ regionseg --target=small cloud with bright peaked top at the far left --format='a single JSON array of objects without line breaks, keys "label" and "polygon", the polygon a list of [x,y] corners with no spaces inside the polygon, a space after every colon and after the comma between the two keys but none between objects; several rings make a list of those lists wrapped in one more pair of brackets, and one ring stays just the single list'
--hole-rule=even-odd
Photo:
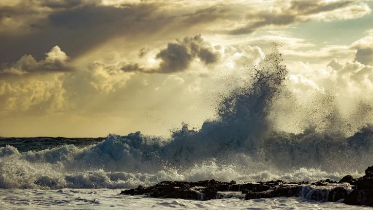
[{"label": "small cloud with bright peaked top at the far left", "polygon": [[[1,75],[30,74],[47,72],[65,72],[71,70],[68,64],[69,57],[60,47],[55,46],[50,52],[45,53],[44,60],[37,61],[32,55],[23,55],[16,63],[0,69]],[[0,77],[1,78],[1,77]]]}]

